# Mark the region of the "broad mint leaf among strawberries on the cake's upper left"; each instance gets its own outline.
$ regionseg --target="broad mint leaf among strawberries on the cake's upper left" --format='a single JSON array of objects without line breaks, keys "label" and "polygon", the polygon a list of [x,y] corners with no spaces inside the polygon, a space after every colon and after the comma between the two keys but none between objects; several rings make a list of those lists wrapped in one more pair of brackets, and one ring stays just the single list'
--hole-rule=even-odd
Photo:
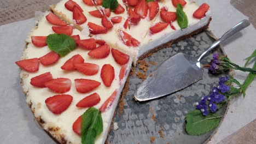
[{"label": "broad mint leaf among strawberries on the cake's upper left", "polygon": [[46,39],[46,43],[50,50],[58,53],[62,57],[77,47],[74,39],[66,34],[50,34]]}]

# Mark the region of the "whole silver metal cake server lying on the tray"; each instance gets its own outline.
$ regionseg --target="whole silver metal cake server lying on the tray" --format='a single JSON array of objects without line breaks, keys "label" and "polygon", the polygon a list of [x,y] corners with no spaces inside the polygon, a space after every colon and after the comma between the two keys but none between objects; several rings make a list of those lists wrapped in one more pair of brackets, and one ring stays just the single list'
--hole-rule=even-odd
[{"label": "whole silver metal cake server lying on the tray", "polygon": [[203,69],[200,64],[200,60],[203,56],[231,35],[241,31],[249,25],[250,22],[248,20],[242,20],[237,23],[237,25],[223,34],[222,37],[214,41],[214,43],[211,44],[199,57],[177,53],[171,58],[168,58],[142,82],[135,92],[135,99],[138,101],[146,101],[163,97],[199,81],[202,79],[203,75]]}]

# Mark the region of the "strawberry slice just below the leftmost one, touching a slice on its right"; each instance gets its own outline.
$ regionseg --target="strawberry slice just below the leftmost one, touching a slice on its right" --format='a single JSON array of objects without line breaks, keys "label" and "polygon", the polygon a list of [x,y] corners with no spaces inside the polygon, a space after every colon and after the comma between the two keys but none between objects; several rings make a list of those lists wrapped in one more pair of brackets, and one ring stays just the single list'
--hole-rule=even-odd
[{"label": "strawberry slice just below the leftmost one, touching a slice on its right", "polygon": [[44,83],[51,79],[53,79],[53,75],[51,75],[51,73],[48,72],[48,73],[44,73],[36,77],[33,77],[30,81],[30,84],[35,87],[45,87]]}]

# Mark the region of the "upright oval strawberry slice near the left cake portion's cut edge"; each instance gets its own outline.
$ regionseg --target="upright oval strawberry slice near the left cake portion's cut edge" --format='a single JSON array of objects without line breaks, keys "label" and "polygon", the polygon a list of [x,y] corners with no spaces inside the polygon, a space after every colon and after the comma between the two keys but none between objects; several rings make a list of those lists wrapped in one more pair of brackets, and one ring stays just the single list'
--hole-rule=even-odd
[{"label": "upright oval strawberry slice near the left cake portion's cut edge", "polygon": [[104,64],[101,69],[101,79],[106,87],[110,87],[115,78],[115,70],[110,64]]}]

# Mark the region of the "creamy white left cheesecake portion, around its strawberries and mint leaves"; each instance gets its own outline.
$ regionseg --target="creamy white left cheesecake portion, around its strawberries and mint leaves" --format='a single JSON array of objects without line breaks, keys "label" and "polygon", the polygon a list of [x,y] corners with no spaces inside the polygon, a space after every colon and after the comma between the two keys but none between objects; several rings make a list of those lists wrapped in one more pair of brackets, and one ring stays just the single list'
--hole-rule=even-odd
[{"label": "creamy white left cheesecake portion, around its strawberries and mint leaves", "polygon": [[[31,32],[29,37],[31,36],[45,36],[54,33],[51,30],[51,25],[45,19],[45,16],[48,15],[49,12],[46,12],[42,17],[42,20],[39,21],[38,26]],[[42,35],[41,35],[42,34]],[[80,33],[77,29],[73,29],[72,35],[79,35],[80,39],[89,39]],[[34,46],[30,40],[27,40],[27,47],[24,50],[24,54],[22,59],[30,59],[30,58],[39,58],[44,56],[46,53],[50,52],[48,46],[37,47]],[[88,95],[97,93],[100,96],[100,101],[98,104],[94,105],[96,109],[100,109],[102,105],[106,105],[107,109],[102,111],[101,116],[103,119],[103,132],[100,136],[97,137],[95,143],[104,143],[107,138],[108,131],[110,128],[110,124],[112,123],[112,118],[115,112],[115,108],[117,107],[120,93],[123,90],[124,83],[127,79],[127,75],[131,69],[132,59],[125,65],[118,64],[113,58],[112,52],[106,58],[96,59],[92,58],[88,55],[90,51],[84,50],[81,47],[77,47],[74,51],[68,53],[65,57],[60,57],[59,60],[51,65],[44,66],[39,64],[39,70],[30,73],[25,70],[21,70],[21,79],[22,79],[22,88],[27,97],[27,103],[31,108],[31,111],[36,117],[38,123],[41,127],[47,131],[51,136],[54,137],[60,143],[81,143],[80,136],[75,133],[72,129],[73,123],[76,119],[81,116],[88,108],[79,108],[76,105],[78,102]],[[62,65],[68,61],[69,58],[79,54],[84,58],[85,63],[92,63],[98,65],[99,69],[97,74],[95,75],[85,75],[78,70],[63,70],[61,69]],[[101,69],[104,64],[110,64],[114,68],[114,80],[111,86],[106,87],[101,79]],[[121,70],[122,69],[122,70]],[[49,97],[57,95],[58,93],[51,91],[49,88],[39,88],[31,85],[32,77],[36,77],[41,74],[45,74],[50,72],[53,76],[53,79],[63,77],[71,80],[71,89],[65,94],[69,94],[73,97],[71,105],[63,111],[61,114],[56,115],[51,112],[46,106],[45,100]],[[119,79],[121,77],[121,80]],[[88,93],[80,93],[76,90],[75,79],[88,79],[100,82],[100,86],[93,89]],[[110,101],[110,103],[106,103],[107,99],[110,95],[115,94],[114,100]],[[113,98],[113,97],[112,97]],[[108,102],[108,101],[107,101]]]}]

